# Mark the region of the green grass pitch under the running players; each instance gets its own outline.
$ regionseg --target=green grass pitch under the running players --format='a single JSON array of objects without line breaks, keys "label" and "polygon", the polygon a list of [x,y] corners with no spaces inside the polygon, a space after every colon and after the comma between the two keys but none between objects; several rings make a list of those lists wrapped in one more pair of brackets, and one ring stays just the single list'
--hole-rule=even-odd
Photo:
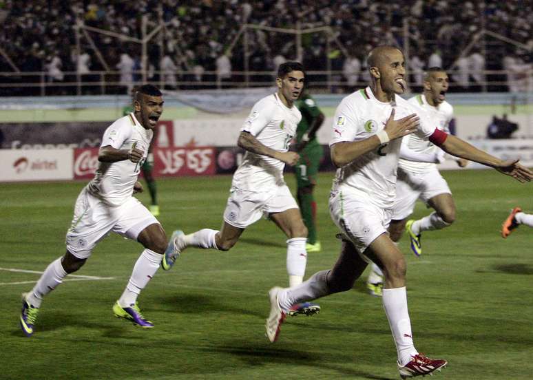
[{"label": "green grass pitch under the running players", "polygon": [[[339,242],[328,215],[333,173],[315,195],[323,251],[307,275],[331,268]],[[418,350],[448,359],[436,379],[533,378],[533,229],[507,240],[500,225],[515,205],[533,212],[532,184],[495,171],[448,171],[457,222],[426,232],[417,258],[404,236],[408,299]],[[286,174],[293,188],[294,178]],[[229,176],[158,180],[167,235],[218,229]],[[266,220],[229,252],[189,249],[158,271],[139,297],[156,327],[115,319],[140,244],[111,235],[81,271],[45,298],[30,339],[19,330],[20,295],[63,255],[72,208],[85,182],[0,184],[1,379],[399,379],[381,300],[358,280],[320,301],[315,317],[289,318],[280,339],[264,337],[267,292],[285,286],[286,238]],[[148,195],[140,196],[147,202]],[[419,204],[415,217],[428,211]],[[68,277],[67,277],[68,279]],[[75,280],[75,281],[74,281]]]}]

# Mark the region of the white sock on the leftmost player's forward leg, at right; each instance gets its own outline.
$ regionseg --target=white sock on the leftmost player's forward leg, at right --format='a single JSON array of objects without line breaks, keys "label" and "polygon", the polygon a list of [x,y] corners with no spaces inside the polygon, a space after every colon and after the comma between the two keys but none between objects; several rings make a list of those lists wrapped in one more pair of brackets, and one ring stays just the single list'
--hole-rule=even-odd
[{"label": "white sock on the leftmost player's forward leg, at right", "polygon": [[163,255],[149,249],[145,249],[140,254],[135,263],[132,277],[129,277],[127,286],[118,299],[119,305],[125,308],[135,304],[140,291],[145,288],[151,277],[156,274],[161,260],[163,260]]}]

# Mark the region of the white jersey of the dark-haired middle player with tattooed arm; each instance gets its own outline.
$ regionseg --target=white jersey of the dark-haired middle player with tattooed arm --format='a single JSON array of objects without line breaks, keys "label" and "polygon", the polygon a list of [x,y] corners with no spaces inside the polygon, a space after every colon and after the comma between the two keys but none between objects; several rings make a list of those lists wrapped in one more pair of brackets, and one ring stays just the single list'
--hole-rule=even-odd
[{"label": "white jersey of the dark-haired middle player with tattooed arm", "polygon": [[[302,114],[295,105],[288,108],[278,94],[272,94],[253,105],[240,130],[250,132],[266,147],[286,152],[300,120]],[[283,161],[247,151],[233,174],[231,186],[247,191],[271,191],[285,184],[284,167]]]}]

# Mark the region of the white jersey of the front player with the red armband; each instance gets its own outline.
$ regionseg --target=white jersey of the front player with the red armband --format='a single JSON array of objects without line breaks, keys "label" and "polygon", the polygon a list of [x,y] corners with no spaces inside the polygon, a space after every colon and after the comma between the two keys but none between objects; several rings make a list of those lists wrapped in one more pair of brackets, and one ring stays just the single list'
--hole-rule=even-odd
[{"label": "white jersey of the front player with the red armband", "polygon": [[[420,125],[415,134],[420,138],[427,139],[435,131],[435,126],[430,125],[427,117],[403,98],[395,96],[395,102],[383,103],[375,98],[370,87],[366,87],[346,96],[337,107],[329,145],[364,140],[375,135],[384,129],[393,107],[395,120],[418,114]],[[380,208],[393,207],[400,145],[401,138],[391,140],[337,169],[333,191],[355,194]]]}]

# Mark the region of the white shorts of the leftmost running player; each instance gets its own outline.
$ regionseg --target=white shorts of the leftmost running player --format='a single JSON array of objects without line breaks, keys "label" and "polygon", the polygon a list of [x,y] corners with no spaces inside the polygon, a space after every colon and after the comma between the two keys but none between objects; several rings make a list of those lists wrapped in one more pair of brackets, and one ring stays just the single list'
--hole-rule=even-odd
[{"label": "white shorts of the leftmost running player", "polygon": [[159,224],[137,198],[129,198],[118,207],[110,207],[83,189],[76,200],[72,225],[67,231],[67,250],[79,259],[86,259],[92,249],[109,232],[137,240],[150,224]]}]

